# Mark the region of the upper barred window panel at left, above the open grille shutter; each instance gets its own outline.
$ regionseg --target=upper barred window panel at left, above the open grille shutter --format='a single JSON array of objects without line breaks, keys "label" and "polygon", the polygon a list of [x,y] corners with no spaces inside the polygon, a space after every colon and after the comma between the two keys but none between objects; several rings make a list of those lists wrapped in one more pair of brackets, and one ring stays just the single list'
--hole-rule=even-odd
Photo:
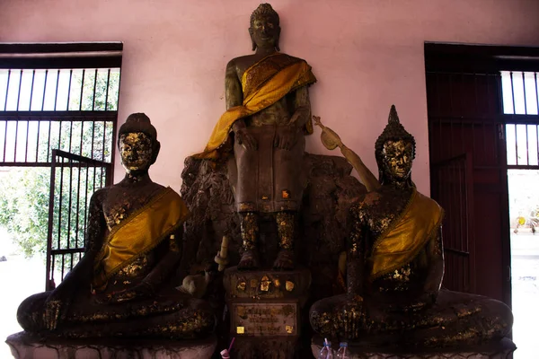
[{"label": "upper barred window panel at left, above the open grille shutter", "polygon": [[119,68],[0,70],[0,89],[0,165],[49,166],[53,148],[111,162]]}]

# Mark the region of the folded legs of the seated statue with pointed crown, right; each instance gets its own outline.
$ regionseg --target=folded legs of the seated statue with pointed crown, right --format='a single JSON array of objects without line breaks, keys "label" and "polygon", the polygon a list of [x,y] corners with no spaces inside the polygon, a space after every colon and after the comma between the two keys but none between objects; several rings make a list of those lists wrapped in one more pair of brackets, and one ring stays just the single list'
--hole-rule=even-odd
[{"label": "folded legs of the seated statue with pointed crown, right", "polygon": [[442,290],[422,311],[391,311],[374,302],[347,303],[345,294],[315,302],[311,325],[324,337],[395,346],[478,345],[505,337],[513,322],[503,302]]}]

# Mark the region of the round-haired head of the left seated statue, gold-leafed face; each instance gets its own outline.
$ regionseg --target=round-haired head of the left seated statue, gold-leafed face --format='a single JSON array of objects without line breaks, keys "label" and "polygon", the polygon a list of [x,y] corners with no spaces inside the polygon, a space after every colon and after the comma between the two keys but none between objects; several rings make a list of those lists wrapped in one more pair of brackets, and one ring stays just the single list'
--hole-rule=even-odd
[{"label": "round-haired head of the left seated statue, gold-leafed face", "polygon": [[119,127],[118,135],[121,165],[128,173],[147,171],[155,163],[161,144],[155,127],[144,113],[129,115]]}]

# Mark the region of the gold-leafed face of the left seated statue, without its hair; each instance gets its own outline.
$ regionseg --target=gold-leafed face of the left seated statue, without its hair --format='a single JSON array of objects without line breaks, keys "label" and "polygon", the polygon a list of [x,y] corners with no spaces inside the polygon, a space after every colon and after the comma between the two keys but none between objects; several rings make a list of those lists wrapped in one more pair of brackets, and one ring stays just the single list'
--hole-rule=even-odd
[{"label": "gold-leafed face of the left seated statue, without its hair", "polygon": [[121,165],[128,173],[147,171],[152,164],[152,152],[152,138],[142,132],[119,136]]}]

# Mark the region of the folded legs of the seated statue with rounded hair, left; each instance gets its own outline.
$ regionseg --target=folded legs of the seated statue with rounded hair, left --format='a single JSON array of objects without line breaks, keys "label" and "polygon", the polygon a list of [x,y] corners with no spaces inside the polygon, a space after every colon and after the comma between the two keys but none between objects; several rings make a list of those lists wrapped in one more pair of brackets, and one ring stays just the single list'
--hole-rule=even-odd
[{"label": "folded legs of the seated statue with rounded hair, left", "polygon": [[30,332],[57,337],[203,337],[215,327],[208,303],[185,295],[155,295],[149,300],[108,304],[91,294],[77,295],[58,328],[45,326],[45,301],[38,293],[22,302],[17,320]]}]

